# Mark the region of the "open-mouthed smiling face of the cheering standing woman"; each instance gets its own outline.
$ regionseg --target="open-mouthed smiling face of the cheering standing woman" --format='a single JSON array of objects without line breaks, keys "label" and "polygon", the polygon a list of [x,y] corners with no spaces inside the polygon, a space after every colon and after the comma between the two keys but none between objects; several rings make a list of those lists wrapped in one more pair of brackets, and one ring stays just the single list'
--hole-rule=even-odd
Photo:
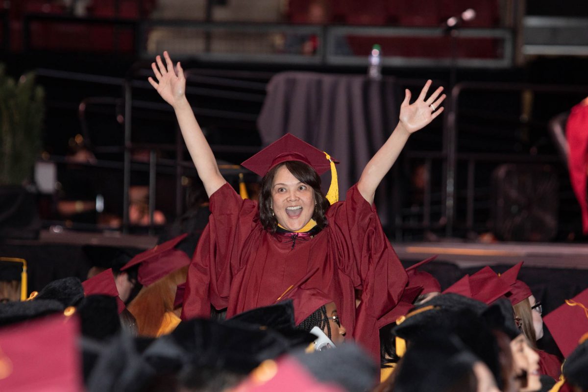
[{"label": "open-mouthed smiling face of the cheering standing woman", "polygon": [[300,230],[315,212],[315,191],[286,166],[280,166],[273,177],[272,210],[282,227],[291,232]]}]

